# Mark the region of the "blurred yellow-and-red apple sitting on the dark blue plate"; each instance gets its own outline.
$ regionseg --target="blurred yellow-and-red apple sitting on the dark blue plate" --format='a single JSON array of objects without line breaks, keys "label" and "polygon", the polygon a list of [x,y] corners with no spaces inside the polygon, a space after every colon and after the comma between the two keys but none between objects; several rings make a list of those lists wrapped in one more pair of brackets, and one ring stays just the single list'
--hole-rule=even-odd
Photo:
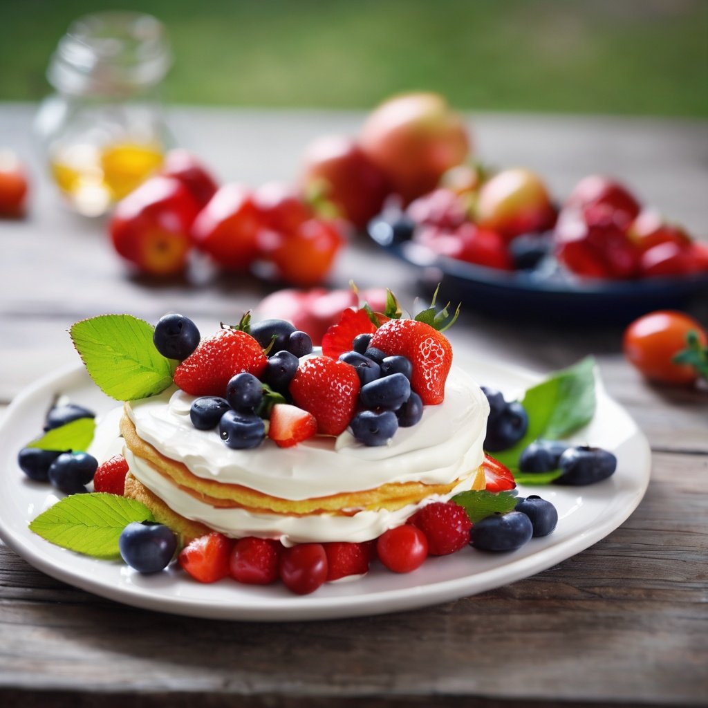
[{"label": "blurred yellow-and-red apple sitting on the dark blue plate", "polygon": [[508,241],[551,228],[556,212],[541,178],[523,168],[496,173],[479,190],[476,220]]}]

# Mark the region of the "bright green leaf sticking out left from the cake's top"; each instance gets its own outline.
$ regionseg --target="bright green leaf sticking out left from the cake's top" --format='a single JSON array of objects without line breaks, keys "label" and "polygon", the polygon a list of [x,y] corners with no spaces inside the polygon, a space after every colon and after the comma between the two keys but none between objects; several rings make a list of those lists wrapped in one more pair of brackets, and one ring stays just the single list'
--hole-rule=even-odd
[{"label": "bright green leaf sticking out left from the cake's top", "polygon": [[177,362],[152,343],[154,327],[129,314],[105,314],[76,322],[69,334],[89,376],[118,401],[147,398],[172,383]]}]

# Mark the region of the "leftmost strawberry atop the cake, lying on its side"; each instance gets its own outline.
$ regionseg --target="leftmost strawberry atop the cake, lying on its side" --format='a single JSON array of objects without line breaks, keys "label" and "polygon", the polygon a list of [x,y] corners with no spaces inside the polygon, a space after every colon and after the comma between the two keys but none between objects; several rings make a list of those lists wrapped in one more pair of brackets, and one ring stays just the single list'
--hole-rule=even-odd
[{"label": "leftmost strawberry atop the cake, lying on its side", "polygon": [[267,363],[250,334],[227,327],[199,343],[177,367],[174,382],[192,396],[224,396],[229,379],[243,371],[258,377]]}]

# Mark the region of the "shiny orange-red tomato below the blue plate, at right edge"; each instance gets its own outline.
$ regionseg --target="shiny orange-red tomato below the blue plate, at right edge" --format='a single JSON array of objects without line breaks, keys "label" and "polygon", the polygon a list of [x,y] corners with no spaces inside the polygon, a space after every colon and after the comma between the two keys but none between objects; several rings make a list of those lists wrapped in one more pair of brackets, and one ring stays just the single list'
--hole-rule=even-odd
[{"label": "shiny orange-red tomato below the blue plate, at right edge", "polygon": [[687,335],[695,331],[701,347],[707,345],[705,329],[691,316],[673,310],[650,312],[624,331],[622,350],[646,378],[667,384],[692,384],[695,367],[676,364],[673,357],[687,348]]}]

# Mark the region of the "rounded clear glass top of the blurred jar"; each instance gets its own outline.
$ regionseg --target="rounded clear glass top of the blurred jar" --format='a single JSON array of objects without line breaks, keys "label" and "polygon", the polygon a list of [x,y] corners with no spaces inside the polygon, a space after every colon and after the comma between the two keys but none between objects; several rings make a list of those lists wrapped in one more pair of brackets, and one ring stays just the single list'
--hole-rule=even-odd
[{"label": "rounded clear glass top of the blurred jar", "polygon": [[159,84],[172,64],[164,25],[134,12],[86,15],[69,26],[47,69],[62,93],[120,96]]}]

